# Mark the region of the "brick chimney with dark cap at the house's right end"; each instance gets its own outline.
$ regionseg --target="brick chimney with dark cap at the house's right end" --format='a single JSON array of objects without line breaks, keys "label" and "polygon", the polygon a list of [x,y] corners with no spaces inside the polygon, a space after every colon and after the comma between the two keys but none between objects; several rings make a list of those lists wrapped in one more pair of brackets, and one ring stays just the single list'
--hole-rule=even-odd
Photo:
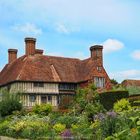
[{"label": "brick chimney with dark cap at the house's right end", "polygon": [[98,66],[103,65],[103,46],[102,45],[94,45],[90,47],[91,58],[96,61]]}]

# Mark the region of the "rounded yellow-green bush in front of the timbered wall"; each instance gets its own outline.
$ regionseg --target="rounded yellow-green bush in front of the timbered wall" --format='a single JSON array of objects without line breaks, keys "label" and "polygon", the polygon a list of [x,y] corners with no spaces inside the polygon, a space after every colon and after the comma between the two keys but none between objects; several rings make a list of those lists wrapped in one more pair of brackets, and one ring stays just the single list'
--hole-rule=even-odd
[{"label": "rounded yellow-green bush in front of the timbered wall", "polygon": [[33,107],[33,112],[40,115],[48,115],[50,112],[52,112],[52,105],[51,104],[36,104]]}]

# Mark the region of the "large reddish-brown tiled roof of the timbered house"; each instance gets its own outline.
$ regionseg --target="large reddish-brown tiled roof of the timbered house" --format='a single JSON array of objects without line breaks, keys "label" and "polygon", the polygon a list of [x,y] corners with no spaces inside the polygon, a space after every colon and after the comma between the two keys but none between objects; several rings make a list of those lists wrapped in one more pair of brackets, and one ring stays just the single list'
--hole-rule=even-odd
[{"label": "large reddish-brown tiled roof of the timbered house", "polygon": [[107,75],[98,72],[93,59],[79,60],[46,55],[22,56],[7,64],[0,73],[0,85],[13,81],[80,82],[93,76]]}]

